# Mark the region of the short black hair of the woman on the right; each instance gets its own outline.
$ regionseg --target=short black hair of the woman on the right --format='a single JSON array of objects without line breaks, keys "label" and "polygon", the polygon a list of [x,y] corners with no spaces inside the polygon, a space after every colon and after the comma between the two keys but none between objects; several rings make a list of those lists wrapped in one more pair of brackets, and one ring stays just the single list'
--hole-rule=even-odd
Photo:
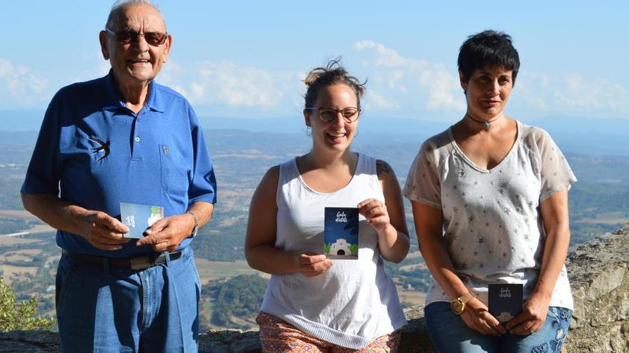
[{"label": "short black hair of the woman on the right", "polygon": [[520,56],[511,43],[511,36],[498,31],[482,31],[467,37],[459,49],[457,60],[459,72],[465,81],[470,81],[472,73],[476,69],[487,66],[502,66],[505,70],[512,71],[512,80],[515,85],[515,76],[520,69]]}]

